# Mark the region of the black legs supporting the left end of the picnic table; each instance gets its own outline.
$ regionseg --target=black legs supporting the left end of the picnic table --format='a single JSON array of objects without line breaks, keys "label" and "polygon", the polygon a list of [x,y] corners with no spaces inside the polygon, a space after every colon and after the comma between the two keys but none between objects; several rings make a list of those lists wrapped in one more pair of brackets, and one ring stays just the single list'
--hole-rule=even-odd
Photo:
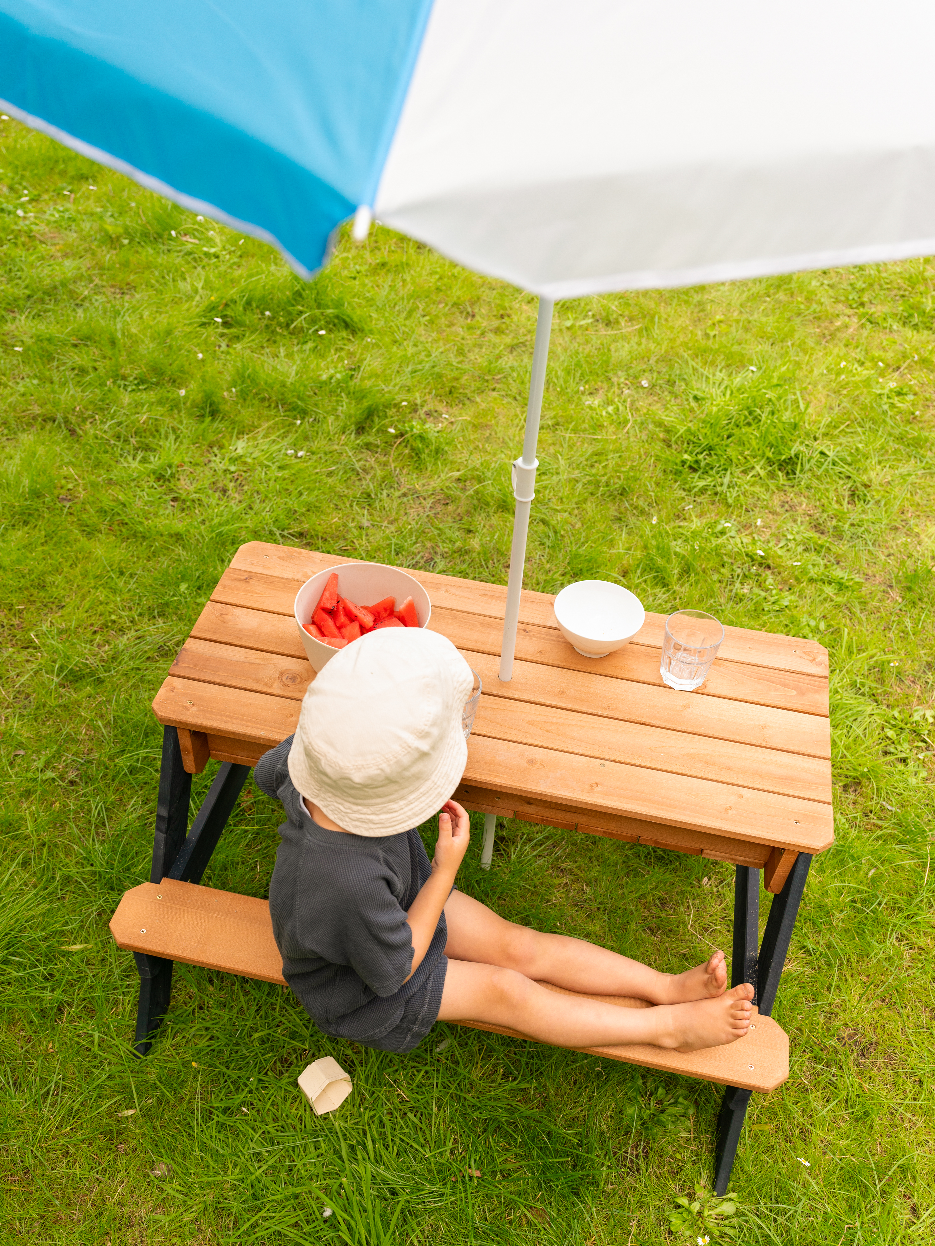
[{"label": "black legs supporting the left end of the picnic table", "polygon": [[[180,878],[201,882],[227,820],[237,804],[249,766],[222,761],[211,791],[188,829],[192,776],[182,765],[182,750],[175,726],[162,731],[162,765],[160,796],[156,806],[156,835],[152,846],[150,882]],[[172,961],[160,956],[133,952],[140,974],[140,1006],[136,1013],[133,1050],[146,1055],[156,1030],[162,1024],[172,993]]]}]

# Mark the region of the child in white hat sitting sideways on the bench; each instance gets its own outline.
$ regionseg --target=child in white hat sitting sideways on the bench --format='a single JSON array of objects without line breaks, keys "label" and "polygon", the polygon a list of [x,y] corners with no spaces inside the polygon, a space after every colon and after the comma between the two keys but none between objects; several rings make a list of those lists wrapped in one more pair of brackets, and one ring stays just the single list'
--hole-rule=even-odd
[{"label": "child in white hat sitting sideways on the bench", "polygon": [[[497,917],[455,890],[469,820],[454,800],[472,675],[435,632],[385,628],[339,650],[258,786],[287,821],[269,886],[283,974],[327,1034],[411,1052],[436,1020],[479,1020],[559,1047],[732,1043],[753,989],[723,952],[679,974]],[[438,809],[431,863],[418,827]],[[560,994],[630,996],[654,1007]]]}]

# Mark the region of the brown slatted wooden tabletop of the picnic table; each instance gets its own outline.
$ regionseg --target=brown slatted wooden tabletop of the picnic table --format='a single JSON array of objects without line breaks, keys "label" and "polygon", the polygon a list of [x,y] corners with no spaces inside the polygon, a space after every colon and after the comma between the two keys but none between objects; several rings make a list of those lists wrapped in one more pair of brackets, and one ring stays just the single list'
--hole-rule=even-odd
[{"label": "brown slatted wooden tabletop of the picnic table", "polygon": [[[242,547],[156,697],[157,718],[207,738],[212,756],[244,764],[289,735],[314,678],[294,594],[308,574],[352,561]],[[501,684],[492,612],[504,589],[416,578],[434,596],[433,628],[484,679],[464,784],[486,799],[475,792],[470,807],[759,867],[772,850],[815,852],[833,841],[827,680],[762,664],[770,652],[787,662],[790,638],[750,633],[742,655],[760,664],[718,660],[688,694],[662,685],[650,643],[595,662],[575,653],[554,618],[527,622],[514,679]],[[524,603],[530,619],[551,611],[547,594]],[[737,645],[746,635],[738,629]]]}]

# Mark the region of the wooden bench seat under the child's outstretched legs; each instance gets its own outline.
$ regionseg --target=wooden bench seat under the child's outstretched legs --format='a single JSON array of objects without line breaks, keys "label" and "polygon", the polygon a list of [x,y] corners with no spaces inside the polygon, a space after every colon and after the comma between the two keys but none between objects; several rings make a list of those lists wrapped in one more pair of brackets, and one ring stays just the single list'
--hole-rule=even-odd
[{"label": "wooden bench seat under the child's outstretched legs", "polygon": [[[111,918],[110,928],[117,947],[132,952],[285,986],[266,900],[163,878],[160,883],[143,882],[127,891]],[[560,987],[550,983],[542,986],[561,992]],[[650,1007],[642,999],[618,996],[591,998],[622,1008]],[[485,1022],[461,1020],[456,1024],[527,1038]],[[789,1075],[789,1039],[770,1017],[758,1015],[755,1008],[750,1033],[727,1047],[689,1053],[667,1052],[648,1044],[578,1050],[744,1090],[774,1090]]]}]

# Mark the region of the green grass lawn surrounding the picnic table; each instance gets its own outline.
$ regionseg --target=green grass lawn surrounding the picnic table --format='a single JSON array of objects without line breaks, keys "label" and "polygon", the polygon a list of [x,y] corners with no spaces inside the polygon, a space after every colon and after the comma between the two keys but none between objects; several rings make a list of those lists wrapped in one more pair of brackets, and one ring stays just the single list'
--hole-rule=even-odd
[{"label": "green grass lawn surrounding the picnic table", "polygon": [[[505,582],[536,300],[381,228],[303,284],[12,121],[0,191],[2,1240],[671,1240],[716,1088],[445,1025],[372,1052],[186,966],[138,1062],[107,930],[150,868],[150,703],[239,543]],[[930,262],[556,307],[526,586],[832,655],[837,844],[743,1244],[935,1237],[934,328]],[[486,873],[480,821],[459,882],[504,915],[662,969],[729,948],[732,867],[506,822]],[[264,896],[278,822],[248,782],[204,881]],[[354,1094],[317,1119],[324,1054]]]}]

